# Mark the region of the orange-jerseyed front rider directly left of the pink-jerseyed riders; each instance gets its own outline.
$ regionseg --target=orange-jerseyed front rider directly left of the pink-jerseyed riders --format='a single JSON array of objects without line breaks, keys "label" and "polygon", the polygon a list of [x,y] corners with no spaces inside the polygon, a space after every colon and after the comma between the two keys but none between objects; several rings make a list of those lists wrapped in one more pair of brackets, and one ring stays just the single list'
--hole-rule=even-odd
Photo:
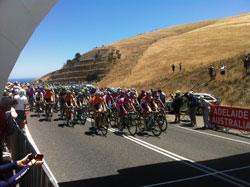
[{"label": "orange-jerseyed front rider directly left of the pink-jerseyed riders", "polygon": [[95,96],[91,99],[91,110],[94,112],[94,122],[95,122],[95,125],[97,124],[96,123],[96,114],[99,115],[101,123],[102,123],[101,125],[103,125],[103,120],[102,120],[102,116],[100,115],[100,113],[102,111],[104,111],[104,112],[107,111],[107,109],[105,107],[104,100],[101,97],[101,95],[102,95],[101,92],[97,92],[95,94]]}]

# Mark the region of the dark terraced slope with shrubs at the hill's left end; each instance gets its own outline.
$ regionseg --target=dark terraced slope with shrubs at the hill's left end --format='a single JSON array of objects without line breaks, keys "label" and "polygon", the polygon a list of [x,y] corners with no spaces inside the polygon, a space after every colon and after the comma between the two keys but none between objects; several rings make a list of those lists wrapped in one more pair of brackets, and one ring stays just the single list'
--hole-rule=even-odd
[{"label": "dark terraced slope with shrubs at the hill's left end", "polygon": [[120,58],[120,51],[113,47],[96,48],[81,55],[79,59],[68,60],[60,70],[38,80],[45,82],[101,80]]}]

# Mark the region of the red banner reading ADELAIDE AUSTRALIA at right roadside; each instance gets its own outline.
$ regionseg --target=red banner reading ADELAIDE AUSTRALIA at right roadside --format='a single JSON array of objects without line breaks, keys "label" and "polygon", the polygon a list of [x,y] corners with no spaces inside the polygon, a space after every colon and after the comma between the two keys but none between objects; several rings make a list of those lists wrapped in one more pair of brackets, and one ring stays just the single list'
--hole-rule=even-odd
[{"label": "red banner reading ADELAIDE AUSTRALIA at right roadside", "polygon": [[212,105],[210,124],[250,131],[250,109]]}]

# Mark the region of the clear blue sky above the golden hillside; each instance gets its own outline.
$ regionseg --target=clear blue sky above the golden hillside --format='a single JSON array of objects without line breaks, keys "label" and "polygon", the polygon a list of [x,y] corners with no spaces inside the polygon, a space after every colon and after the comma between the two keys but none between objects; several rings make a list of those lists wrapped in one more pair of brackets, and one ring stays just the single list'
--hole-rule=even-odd
[{"label": "clear blue sky above the golden hillside", "polygon": [[10,78],[40,77],[85,53],[156,29],[250,12],[250,0],[59,0]]}]

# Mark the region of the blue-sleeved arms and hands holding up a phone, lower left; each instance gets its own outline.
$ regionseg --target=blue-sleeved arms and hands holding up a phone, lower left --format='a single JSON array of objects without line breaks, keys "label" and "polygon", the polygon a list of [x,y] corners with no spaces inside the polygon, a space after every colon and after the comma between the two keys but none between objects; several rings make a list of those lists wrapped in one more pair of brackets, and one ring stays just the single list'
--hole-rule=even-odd
[{"label": "blue-sleeved arms and hands holding up a phone, lower left", "polygon": [[32,154],[26,155],[22,160],[18,160],[16,162],[12,162],[9,164],[0,166],[0,173],[4,173],[13,169],[22,168],[16,175],[10,177],[8,180],[1,180],[1,187],[11,187],[16,186],[23,177],[29,172],[30,168],[33,166],[41,166],[43,161],[36,161],[35,159],[29,160],[29,156]]}]

